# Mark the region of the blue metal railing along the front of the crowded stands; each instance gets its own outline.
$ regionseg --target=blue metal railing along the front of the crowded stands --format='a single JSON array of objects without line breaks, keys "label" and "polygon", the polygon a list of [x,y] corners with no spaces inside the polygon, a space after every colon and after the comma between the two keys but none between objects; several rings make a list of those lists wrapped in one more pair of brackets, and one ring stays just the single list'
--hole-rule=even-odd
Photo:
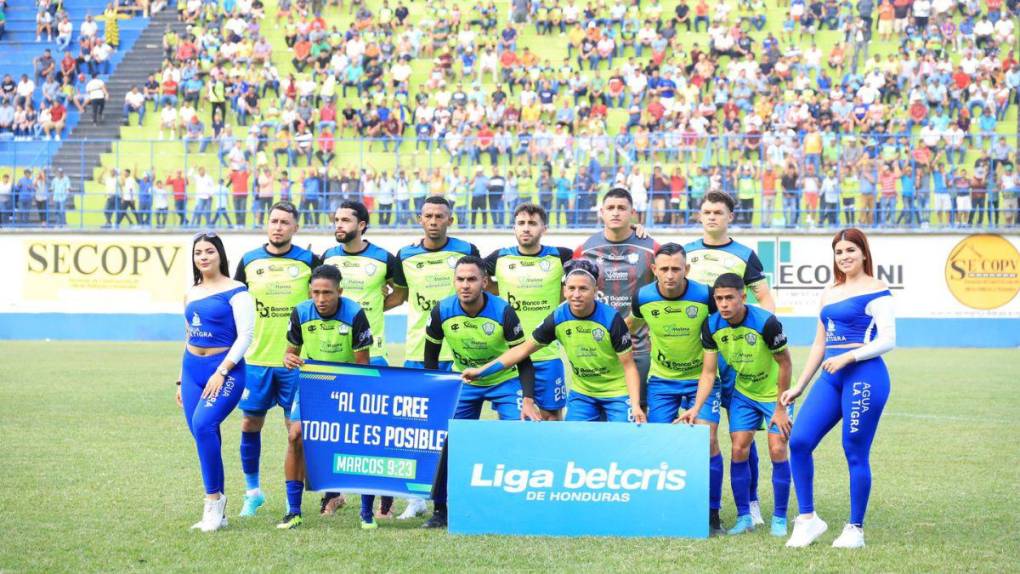
[{"label": "blue metal railing along the front of the crowded stands", "polygon": [[[65,146],[60,165],[76,154],[75,171],[84,175],[58,186],[55,168],[22,168],[21,143],[7,142],[0,153],[13,165],[0,167],[0,226],[246,227],[280,199],[299,205],[305,224],[326,226],[340,202],[358,199],[370,205],[374,225],[406,227],[416,224],[418,204],[428,195],[451,199],[463,226],[507,226],[513,208],[525,201],[545,206],[551,226],[595,226],[601,195],[620,179],[652,226],[696,224],[700,200],[710,190],[731,195],[735,223],[755,227],[1012,226],[1020,218],[1017,178],[1009,176],[1017,164],[1016,135],[972,133],[959,145],[940,138],[932,147],[914,136],[827,135],[820,153],[805,153],[812,149],[803,137],[782,146],[769,136],[661,134],[650,134],[647,145],[632,137],[514,136],[506,146],[496,140],[489,145],[488,138],[455,140],[456,146],[414,137],[332,139],[325,148],[332,153],[317,140],[302,150],[293,141],[241,139],[233,152],[211,138],[65,141],[59,143]],[[109,151],[88,170],[93,146]],[[247,175],[232,169],[242,166]],[[790,167],[797,176],[786,190],[783,172]],[[135,184],[125,182],[129,171]],[[641,185],[628,175],[634,171],[642,173]],[[497,172],[502,192],[476,180]],[[146,173],[161,185],[143,184]],[[7,174],[9,194],[2,180]],[[268,187],[260,187],[261,174]],[[185,179],[183,199],[168,182],[177,175]],[[198,177],[205,178],[201,193]],[[905,193],[904,177],[912,177],[913,193]],[[1013,187],[1002,189],[1010,180]]]}]

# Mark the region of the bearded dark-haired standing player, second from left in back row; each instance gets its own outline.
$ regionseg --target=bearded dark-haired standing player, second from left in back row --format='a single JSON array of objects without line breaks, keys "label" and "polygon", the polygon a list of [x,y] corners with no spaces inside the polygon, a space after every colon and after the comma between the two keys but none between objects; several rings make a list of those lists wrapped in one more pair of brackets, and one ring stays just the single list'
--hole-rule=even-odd
[{"label": "bearded dark-haired standing player, second from left in back row", "polygon": [[[344,293],[361,306],[372,329],[370,363],[387,366],[386,321],[384,311],[397,307],[404,300],[403,290],[394,284],[400,263],[389,251],[364,239],[368,229],[368,209],[358,201],[345,201],[334,213],[336,247],[322,254],[322,262],[342,270]],[[339,493],[326,492],[322,514],[332,515],[344,499]],[[382,497],[379,518],[393,517],[393,497]],[[425,512],[421,499],[408,499],[408,506],[401,519],[413,518]]]}]

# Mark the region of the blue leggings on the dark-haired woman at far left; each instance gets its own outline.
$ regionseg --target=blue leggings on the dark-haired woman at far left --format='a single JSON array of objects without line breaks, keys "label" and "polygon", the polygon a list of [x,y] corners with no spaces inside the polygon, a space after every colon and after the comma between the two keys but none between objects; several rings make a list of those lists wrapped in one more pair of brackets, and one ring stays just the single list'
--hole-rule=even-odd
[{"label": "blue leggings on the dark-haired woman at far left", "polygon": [[223,457],[220,453],[219,424],[238,406],[245,390],[245,362],[235,365],[226,375],[219,395],[203,400],[205,382],[216,372],[226,352],[209,357],[198,357],[185,351],[181,378],[181,401],[185,419],[195,437],[198,461],[202,466],[205,493],[223,491]]}]

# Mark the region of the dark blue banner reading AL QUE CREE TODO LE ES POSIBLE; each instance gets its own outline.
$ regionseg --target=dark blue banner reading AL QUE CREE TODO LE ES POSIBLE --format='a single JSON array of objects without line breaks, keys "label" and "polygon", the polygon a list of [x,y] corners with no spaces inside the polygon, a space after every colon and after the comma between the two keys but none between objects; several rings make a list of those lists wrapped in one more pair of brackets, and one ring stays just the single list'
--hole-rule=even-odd
[{"label": "dark blue banner reading AL QUE CREE TODO LE ES POSIBLE", "polygon": [[309,489],[428,498],[460,384],[451,373],[307,361]]}]

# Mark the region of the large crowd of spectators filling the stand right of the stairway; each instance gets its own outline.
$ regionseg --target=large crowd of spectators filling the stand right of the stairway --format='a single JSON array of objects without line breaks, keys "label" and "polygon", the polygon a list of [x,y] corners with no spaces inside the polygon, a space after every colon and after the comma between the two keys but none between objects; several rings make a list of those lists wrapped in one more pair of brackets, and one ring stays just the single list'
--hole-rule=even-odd
[{"label": "large crowd of spectators filling the stand right of the stairway", "polygon": [[[1016,220],[1016,136],[998,134],[1020,92],[1013,0],[789,0],[781,28],[764,0],[468,6],[353,2],[342,27],[320,2],[280,2],[271,23],[261,0],[180,2],[187,32],[167,30],[161,69],[123,104],[219,160],[209,185],[175,176],[203,206],[177,223],[206,222],[222,188],[235,225],[249,199],[280,197],[314,224],[346,189],[384,224],[422,191],[465,223],[533,198],[583,224],[616,185],[653,224],[690,222],[711,190],[742,224]],[[519,42],[532,31],[567,57]],[[398,167],[352,174],[350,139]]]}]

